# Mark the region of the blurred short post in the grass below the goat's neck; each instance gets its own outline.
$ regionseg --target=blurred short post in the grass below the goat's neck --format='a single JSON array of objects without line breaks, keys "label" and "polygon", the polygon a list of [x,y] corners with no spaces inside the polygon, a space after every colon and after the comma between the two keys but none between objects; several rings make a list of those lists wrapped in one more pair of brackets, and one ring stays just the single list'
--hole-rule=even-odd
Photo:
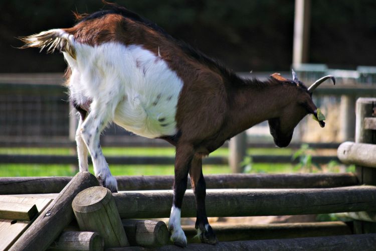
[{"label": "blurred short post in the grass below the goat's neck", "polygon": [[229,164],[233,173],[243,173],[240,163],[244,160],[246,152],[247,134],[243,132],[232,138],[229,143]]}]

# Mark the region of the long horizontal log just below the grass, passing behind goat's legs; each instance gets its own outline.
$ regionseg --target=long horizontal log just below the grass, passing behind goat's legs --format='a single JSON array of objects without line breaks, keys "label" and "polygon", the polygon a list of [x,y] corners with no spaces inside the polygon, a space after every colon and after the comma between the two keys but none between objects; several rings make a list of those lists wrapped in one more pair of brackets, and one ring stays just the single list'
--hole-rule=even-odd
[{"label": "long horizontal log just below the grass, passing behind goat's legs", "polygon": [[[119,190],[171,189],[173,176],[116,176]],[[59,193],[71,177],[0,178],[0,194]],[[222,174],[205,175],[207,188],[325,188],[353,186],[352,173],[343,174]],[[191,181],[188,180],[188,187]]]}]

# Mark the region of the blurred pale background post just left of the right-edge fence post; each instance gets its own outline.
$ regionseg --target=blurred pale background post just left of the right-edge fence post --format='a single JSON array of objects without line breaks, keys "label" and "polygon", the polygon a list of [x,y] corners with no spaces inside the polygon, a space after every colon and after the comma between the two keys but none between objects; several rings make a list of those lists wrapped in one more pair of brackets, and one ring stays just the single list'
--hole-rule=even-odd
[{"label": "blurred pale background post just left of the right-edge fence post", "polygon": [[352,141],[355,136],[355,96],[342,95],[340,102],[340,138]]}]

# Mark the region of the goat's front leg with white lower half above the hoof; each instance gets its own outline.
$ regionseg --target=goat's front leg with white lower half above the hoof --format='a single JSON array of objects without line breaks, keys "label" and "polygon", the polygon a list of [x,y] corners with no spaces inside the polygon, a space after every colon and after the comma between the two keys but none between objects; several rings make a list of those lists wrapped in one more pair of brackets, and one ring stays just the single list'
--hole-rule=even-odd
[{"label": "goat's front leg with white lower half above the hoof", "polygon": [[173,202],[168,229],[171,231],[171,240],[175,245],[186,246],[186,237],[180,225],[181,203],[186,190],[188,172],[194,155],[191,145],[178,145],[175,156],[175,180],[173,183]]}]

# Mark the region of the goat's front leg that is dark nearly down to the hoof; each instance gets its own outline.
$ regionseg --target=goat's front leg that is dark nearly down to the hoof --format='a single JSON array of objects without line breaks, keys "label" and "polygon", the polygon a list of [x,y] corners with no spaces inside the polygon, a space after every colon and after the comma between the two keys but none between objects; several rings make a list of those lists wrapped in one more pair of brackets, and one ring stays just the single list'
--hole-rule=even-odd
[{"label": "goat's front leg that is dark nearly down to the hoof", "polygon": [[197,229],[197,235],[200,237],[201,242],[215,244],[218,242],[218,239],[206,215],[206,183],[203,175],[202,159],[200,157],[195,156],[192,160],[190,177],[192,189],[196,197],[197,218],[195,228]]}]

